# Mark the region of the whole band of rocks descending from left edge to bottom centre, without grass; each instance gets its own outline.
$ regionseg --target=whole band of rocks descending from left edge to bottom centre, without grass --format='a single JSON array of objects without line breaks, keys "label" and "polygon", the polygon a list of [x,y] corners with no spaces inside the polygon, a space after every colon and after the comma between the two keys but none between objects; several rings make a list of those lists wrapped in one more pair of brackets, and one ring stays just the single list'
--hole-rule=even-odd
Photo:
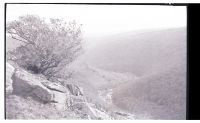
[{"label": "whole band of rocks descending from left edge to bottom centre, without grass", "polygon": [[75,84],[65,83],[63,86],[50,82],[39,75],[14,68],[8,63],[6,63],[6,68],[6,91],[9,90],[20,98],[24,97],[28,100],[31,97],[40,104],[53,104],[57,111],[71,111],[81,119],[110,120],[128,117],[128,115],[109,112],[95,103],[88,102],[86,96],[83,95],[83,89]]}]

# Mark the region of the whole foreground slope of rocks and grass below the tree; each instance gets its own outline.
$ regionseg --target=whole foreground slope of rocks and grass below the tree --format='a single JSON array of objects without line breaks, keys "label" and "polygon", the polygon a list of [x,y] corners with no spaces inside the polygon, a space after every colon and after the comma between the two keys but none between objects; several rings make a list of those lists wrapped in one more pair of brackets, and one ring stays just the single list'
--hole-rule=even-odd
[{"label": "whole foreground slope of rocks and grass below the tree", "polygon": [[[88,102],[77,85],[67,83],[63,86],[10,64],[6,67],[6,84],[13,88],[12,94],[6,96],[6,117],[9,119],[131,119],[127,114],[110,112]],[[41,107],[45,109],[40,110]]]}]

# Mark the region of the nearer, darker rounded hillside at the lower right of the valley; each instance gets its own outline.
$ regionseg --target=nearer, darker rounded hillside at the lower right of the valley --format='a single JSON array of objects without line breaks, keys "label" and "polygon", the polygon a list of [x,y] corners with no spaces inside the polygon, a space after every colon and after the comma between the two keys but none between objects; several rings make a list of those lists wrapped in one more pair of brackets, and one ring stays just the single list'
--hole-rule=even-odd
[{"label": "nearer, darker rounded hillside at the lower right of the valley", "polygon": [[114,89],[113,102],[138,116],[148,114],[153,119],[185,119],[186,68],[183,65],[124,83]]}]

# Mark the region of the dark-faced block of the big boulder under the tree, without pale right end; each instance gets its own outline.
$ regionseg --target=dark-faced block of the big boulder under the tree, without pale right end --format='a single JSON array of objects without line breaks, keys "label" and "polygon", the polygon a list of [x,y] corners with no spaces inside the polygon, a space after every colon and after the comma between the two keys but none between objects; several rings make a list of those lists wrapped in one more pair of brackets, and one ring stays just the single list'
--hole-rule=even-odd
[{"label": "dark-faced block of the big boulder under the tree, without pale right end", "polygon": [[21,96],[32,96],[42,102],[51,102],[52,92],[41,84],[41,78],[34,76],[27,71],[16,70],[13,77],[13,93]]}]

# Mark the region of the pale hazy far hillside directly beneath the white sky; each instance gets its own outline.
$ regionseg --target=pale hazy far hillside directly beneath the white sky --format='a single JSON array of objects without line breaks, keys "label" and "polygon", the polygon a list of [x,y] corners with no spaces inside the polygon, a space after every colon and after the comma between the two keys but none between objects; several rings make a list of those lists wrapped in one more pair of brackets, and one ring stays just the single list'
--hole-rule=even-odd
[{"label": "pale hazy far hillside directly beneath the white sky", "polygon": [[186,28],[123,33],[98,42],[86,52],[87,61],[116,72],[142,76],[180,65],[186,58]]}]

